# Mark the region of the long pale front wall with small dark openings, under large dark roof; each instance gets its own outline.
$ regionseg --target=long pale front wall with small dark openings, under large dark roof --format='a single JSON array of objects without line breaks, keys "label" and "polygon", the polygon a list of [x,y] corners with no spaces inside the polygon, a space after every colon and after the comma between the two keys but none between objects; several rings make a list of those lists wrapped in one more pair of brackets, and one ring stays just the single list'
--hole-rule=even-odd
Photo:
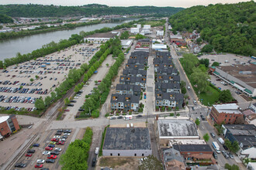
[{"label": "long pale front wall with small dark openings, under large dark roof", "polygon": [[148,155],[152,155],[152,150],[107,150],[107,149],[102,149],[103,156],[135,156],[135,154],[136,154],[136,156],[148,156]]}]

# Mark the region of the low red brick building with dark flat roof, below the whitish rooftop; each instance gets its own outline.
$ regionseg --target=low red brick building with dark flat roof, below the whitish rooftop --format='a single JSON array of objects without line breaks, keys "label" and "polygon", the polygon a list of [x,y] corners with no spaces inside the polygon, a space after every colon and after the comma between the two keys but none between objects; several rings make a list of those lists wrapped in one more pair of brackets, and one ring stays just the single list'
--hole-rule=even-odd
[{"label": "low red brick building with dark flat roof, below the whitish rooftop", "polygon": [[211,160],[213,156],[209,145],[173,145],[173,148],[180,151],[185,160]]}]

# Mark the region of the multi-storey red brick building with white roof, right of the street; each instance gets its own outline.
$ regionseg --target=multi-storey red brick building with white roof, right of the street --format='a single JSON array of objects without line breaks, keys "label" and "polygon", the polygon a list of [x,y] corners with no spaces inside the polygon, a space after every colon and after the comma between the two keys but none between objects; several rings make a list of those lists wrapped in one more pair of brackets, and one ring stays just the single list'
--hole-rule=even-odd
[{"label": "multi-storey red brick building with white roof, right of the street", "polygon": [[216,124],[234,124],[238,117],[243,117],[240,107],[237,104],[213,105],[209,115]]}]

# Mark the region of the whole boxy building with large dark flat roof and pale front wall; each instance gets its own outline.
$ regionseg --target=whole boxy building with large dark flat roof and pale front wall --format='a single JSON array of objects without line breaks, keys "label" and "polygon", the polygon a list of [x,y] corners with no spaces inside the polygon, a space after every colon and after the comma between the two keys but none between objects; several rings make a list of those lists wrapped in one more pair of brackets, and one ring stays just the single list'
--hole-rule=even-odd
[{"label": "whole boxy building with large dark flat roof and pale front wall", "polygon": [[152,155],[148,128],[107,128],[103,156]]}]

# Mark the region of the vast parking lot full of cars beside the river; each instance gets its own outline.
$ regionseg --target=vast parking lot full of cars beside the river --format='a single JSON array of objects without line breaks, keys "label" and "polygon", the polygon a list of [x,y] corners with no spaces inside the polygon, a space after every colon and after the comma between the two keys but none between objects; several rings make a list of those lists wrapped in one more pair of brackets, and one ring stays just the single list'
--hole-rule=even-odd
[{"label": "vast parking lot full of cars beside the river", "polygon": [[99,44],[81,44],[45,57],[9,66],[0,73],[0,106],[34,110],[36,98],[47,97],[65,80],[69,70],[80,68],[98,51]]}]

